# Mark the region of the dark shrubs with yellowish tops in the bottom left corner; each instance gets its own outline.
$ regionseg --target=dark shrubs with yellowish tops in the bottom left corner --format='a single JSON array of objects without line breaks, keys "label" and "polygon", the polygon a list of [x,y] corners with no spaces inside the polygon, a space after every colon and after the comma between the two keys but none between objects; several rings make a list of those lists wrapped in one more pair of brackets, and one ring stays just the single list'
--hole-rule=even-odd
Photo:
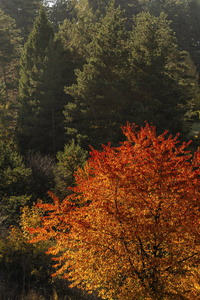
[{"label": "dark shrubs with yellowish tops in the bottom left corner", "polygon": [[27,237],[18,227],[13,227],[7,236],[1,236],[1,299],[25,299],[30,288],[40,289],[41,294],[45,290],[50,293],[51,258],[45,254],[46,250],[45,243],[28,244]]}]

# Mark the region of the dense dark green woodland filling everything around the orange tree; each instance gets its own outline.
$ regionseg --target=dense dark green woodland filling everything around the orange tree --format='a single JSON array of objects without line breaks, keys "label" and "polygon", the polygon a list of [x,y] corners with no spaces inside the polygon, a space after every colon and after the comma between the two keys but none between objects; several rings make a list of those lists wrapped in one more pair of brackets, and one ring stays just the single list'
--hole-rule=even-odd
[{"label": "dense dark green woodland filling everything around the orange tree", "polygon": [[23,228],[127,122],[197,150],[199,28],[200,0],[0,0],[0,299],[97,299]]}]

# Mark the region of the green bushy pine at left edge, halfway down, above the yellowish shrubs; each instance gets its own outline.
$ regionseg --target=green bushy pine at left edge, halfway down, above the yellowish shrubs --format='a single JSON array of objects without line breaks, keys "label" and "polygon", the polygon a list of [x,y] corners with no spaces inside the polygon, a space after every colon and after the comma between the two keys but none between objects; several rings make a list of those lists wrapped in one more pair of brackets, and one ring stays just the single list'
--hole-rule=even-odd
[{"label": "green bushy pine at left edge, halfway down, above the yellowish shrubs", "polygon": [[0,141],[0,208],[7,226],[18,222],[20,207],[28,199],[30,175],[13,145]]}]

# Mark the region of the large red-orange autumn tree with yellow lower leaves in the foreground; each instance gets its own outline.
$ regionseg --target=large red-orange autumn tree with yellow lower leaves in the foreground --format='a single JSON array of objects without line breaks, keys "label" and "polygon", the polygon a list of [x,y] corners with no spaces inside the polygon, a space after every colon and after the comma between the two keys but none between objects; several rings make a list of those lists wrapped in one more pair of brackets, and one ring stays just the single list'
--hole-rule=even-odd
[{"label": "large red-orange autumn tree with yellow lower leaves in the foreground", "polygon": [[197,299],[200,150],[148,123],[123,132],[121,146],[92,149],[72,195],[38,204],[32,242],[53,239],[55,275],[106,299]]}]

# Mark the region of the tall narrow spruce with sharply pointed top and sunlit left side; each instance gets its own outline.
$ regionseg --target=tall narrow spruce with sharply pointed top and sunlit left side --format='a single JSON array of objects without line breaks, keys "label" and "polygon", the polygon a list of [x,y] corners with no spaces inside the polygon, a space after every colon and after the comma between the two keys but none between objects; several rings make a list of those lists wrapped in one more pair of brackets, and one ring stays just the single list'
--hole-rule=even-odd
[{"label": "tall narrow spruce with sharply pointed top and sunlit left side", "polygon": [[20,147],[24,151],[30,149],[32,136],[35,135],[35,125],[40,110],[38,87],[44,72],[48,47],[53,37],[52,25],[47,18],[45,8],[42,7],[21,56],[17,135]]}]

